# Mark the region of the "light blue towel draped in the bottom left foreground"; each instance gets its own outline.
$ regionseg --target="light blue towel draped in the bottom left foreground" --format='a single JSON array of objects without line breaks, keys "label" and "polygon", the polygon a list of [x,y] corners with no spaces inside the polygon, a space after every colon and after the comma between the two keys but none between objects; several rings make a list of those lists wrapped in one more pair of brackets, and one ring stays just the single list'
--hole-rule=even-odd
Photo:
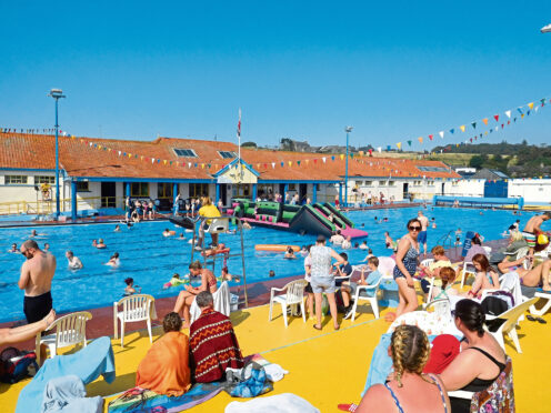
[{"label": "light blue towel draped in the bottom left foreground", "polygon": [[101,375],[114,381],[114,355],[109,338],[100,338],[74,354],[48,359],[31,382],[19,393],[16,413],[40,412],[47,383],[56,377],[73,374],[84,384]]}]

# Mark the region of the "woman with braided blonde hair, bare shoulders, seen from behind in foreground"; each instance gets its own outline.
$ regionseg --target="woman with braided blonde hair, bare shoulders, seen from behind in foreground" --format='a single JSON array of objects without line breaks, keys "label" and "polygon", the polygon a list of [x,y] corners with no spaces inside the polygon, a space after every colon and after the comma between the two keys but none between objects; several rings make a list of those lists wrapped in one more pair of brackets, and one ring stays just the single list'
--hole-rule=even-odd
[{"label": "woman with braided blonde hair, bare shoulders, seen from behind in foreground", "polygon": [[414,325],[399,325],[389,346],[393,373],[384,384],[374,384],[365,392],[355,413],[408,412],[449,413],[450,400],[440,379],[423,374],[429,361],[427,334]]}]

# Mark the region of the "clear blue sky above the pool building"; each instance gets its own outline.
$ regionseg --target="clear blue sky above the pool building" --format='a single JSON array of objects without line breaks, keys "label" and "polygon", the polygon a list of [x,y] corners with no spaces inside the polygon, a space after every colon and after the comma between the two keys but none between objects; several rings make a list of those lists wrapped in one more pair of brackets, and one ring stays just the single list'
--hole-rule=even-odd
[{"label": "clear blue sky above the pool building", "polygon": [[[0,127],[51,127],[56,87],[77,135],[236,141],[241,107],[243,141],[332,144],[352,124],[351,144],[419,149],[551,98],[549,0],[186,3],[3,1]],[[551,105],[488,141],[550,130]]]}]

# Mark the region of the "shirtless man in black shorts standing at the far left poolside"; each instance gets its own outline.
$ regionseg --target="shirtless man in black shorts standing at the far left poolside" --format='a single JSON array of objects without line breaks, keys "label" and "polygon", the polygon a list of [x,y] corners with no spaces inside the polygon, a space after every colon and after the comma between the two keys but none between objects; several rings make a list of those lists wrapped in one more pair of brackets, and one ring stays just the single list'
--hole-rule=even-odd
[{"label": "shirtless man in black shorts standing at the far left poolside", "polygon": [[21,245],[27,261],[21,266],[19,289],[24,290],[23,312],[27,322],[36,323],[52,309],[51,280],[56,272],[56,256],[46,254],[36,241],[27,240]]}]

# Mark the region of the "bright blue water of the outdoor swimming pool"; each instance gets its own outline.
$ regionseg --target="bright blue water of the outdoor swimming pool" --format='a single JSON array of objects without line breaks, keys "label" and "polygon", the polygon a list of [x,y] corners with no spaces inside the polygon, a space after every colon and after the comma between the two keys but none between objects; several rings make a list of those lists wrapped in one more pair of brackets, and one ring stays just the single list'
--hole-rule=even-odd
[{"label": "bright blue water of the outdoor swimming pool", "polygon": [[[369,232],[368,244],[377,255],[390,255],[390,250],[384,248],[384,231],[389,231],[394,240],[405,233],[405,222],[417,215],[418,209],[395,210],[371,210],[350,212],[348,215],[360,228],[363,223]],[[429,218],[434,216],[438,228],[429,230],[429,249],[450,230],[460,226],[463,234],[469,231],[478,231],[487,240],[501,238],[501,233],[517,219],[509,211],[483,211],[471,209],[435,208],[425,211]],[[531,216],[524,213],[521,219],[521,228]],[[374,216],[379,219],[387,216],[389,222],[374,224]],[[54,308],[58,311],[72,311],[79,309],[91,309],[112,305],[113,301],[121,298],[124,289],[123,280],[128,276],[134,279],[136,284],[142,288],[142,292],[150,293],[157,298],[178,294],[181,288],[162,290],[163,283],[168,282],[172,273],[180,275],[188,273],[191,248],[187,241],[176,238],[163,238],[164,228],[174,229],[168,222],[142,222],[128,230],[121,225],[121,232],[113,232],[114,224],[90,224],[37,228],[40,234],[37,239],[42,248],[44,242],[50,244],[50,251],[58,261],[58,269],[52,284]],[[12,242],[18,245],[23,242],[32,228],[1,229],[0,230],[0,265],[2,279],[0,280],[0,321],[23,319],[22,301],[23,292],[18,289],[17,282],[19,271],[24,258],[20,254],[6,252]],[[178,233],[181,228],[176,228]],[[282,253],[269,253],[254,251],[254,244],[294,244],[303,245],[313,243],[315,236],[299,235],[295,233],[276,231],[271,229],[253,228],[244,231],[246,271],[247,281],[254,282],[268,279],[270,270],[276,272],[277,278],[297,275],[303,273],[303,260],[284,260]],[[190,233],[184,233],[190,238]],[[93,239],[104,239],[108,248],[97,250],[91,246]],[[361,242],[361,240],[358,240]],[[239,251],[239,236],[222,234],[220,242],[224,242],[232,249]],[[79,256],[84,268],[71,271],[67,268],[64,252],[72,250]],[[103,265],[113,252],[119,252],[121,265],[111,269]],[[340,252],[339,249],[337,249]],[[357,263],[365,256],[362,250],[348,250],[350,262]],[[197,258],[197,254],[196,254]],[[240,258],[229,261],[229,270],[232,274],[241,274]],[[220,264],[217,264],[218,276]]]}]

